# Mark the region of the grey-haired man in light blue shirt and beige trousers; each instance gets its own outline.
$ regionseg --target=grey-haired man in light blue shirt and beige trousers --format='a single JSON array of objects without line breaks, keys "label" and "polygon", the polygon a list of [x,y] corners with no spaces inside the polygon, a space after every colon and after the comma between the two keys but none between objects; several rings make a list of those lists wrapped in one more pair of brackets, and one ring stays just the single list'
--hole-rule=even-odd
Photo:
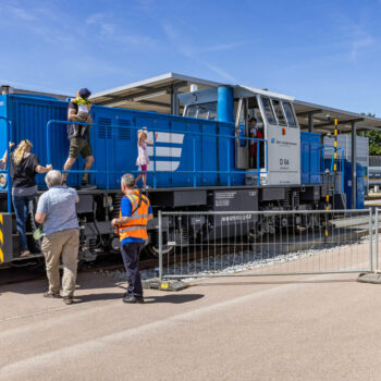
[{"label": "grey-haired man in light blue shirt and beige trousers", "polygon": [[62,185],[60,171],[45,176],[49,190],[41,195],[35,220],[44,223],[42,253],[46,260],[49,291],[45,297],[60,297],[60,257],[62,256],[62,297],[73,303],[79,247],[78,220],[75,204],[79,201],[75,189]]}]

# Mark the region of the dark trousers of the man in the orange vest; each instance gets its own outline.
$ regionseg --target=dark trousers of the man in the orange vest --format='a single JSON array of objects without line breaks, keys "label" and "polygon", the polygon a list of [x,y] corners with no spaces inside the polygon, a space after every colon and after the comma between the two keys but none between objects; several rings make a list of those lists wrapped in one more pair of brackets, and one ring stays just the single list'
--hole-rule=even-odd
[{"label": "dark trousers of the man in the orange vest", "polygon": [[121,254],[127,275],[127,292],[134,296],[143,296],[142,279],[139,272],[139,255],[144,247],[143,242],[131,242],[121,245]]}]

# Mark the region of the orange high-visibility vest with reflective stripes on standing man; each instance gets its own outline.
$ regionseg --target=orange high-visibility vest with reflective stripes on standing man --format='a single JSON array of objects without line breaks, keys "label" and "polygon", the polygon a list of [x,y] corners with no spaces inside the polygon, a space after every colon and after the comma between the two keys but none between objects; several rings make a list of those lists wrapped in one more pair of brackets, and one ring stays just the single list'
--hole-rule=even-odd
[{"label": "orange high-visibility vest with reflective stripes on standing man", "polygon": [[[138,190],[134,190],[125,197],[130,199],[133,209],[128,222],[118,228],[120,242],[122,242],[126,237],[148,239],[146,229],[149,216],[148,198],[142,195]],[[122,208],[119,212],[119,217],[122,217]]]}]

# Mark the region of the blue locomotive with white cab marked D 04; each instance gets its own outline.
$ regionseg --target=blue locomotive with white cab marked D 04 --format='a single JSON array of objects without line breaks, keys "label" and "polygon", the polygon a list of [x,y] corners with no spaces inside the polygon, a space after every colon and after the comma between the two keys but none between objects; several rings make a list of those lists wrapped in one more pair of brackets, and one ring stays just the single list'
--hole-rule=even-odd
[{"label": "blue locomotive with white cab marked D 04", "polygon": [[[160,210],[306,210],[344,209],[343,162],[336,156],[324,160],[321,136],[300,132],[293,98],[244,86],[221,86],[181,96],[184,115],[169,115],[94,106],[90,143],[96,158],[90,172],[94,190],[79,190],[77,207],[82,226],[81,256],[93,260],[100,253],[118,250],[119,242],[109,221],[118,214],[121,199],[120,177],[138,173],[137,133],[149,131],[150,163],[146,190],[153,211]],[[67,102],[48,97],[3,95],[0,97],[0,152],[8,140],[27,138],[41,163],[62,169],[69,151],[66,137]],[[262,128],[263,138],[249,137],[249,118]],[[153,133],[157,132],[157,138]],[[255,164],[250,167],[249,146],[256,145]],[[332,156],[333,157],[333,156]],[[70,186],[81,184],[81,159],[69,176]],[[328,173],[327,172],[330,172]],[[334,172],[334,173],[333,173]],[[2,172],[7,175],[7,171]],[[37,176],[45,189],[44,176]],[[329,205],[327,205],[329,196]],[[10,184],[0,189],[0,212],[8,244],[0,262],[19,256],[10,209]],[[9,213],[7,213],[9,212]],[[243,217],[244,218],[244,217]],[[271,234],[275,220],[249,217],[247,234]],[[5,223],[5,222],[7,223]],[[0,221],[1,222],[1,221]],[[308,216],[297,222],[311,226]],[[168,222],[164,241],[173,241],[181,222]],[[219,222],[205,221],[201,230],[220,232]],[[147,248],[157,251],[157,221],[148,228]],[[212,233],[211,233],[212,234]],[[229,234],[229,233],[218,233]],[[30,237],[32,238],[32,237]]]}]

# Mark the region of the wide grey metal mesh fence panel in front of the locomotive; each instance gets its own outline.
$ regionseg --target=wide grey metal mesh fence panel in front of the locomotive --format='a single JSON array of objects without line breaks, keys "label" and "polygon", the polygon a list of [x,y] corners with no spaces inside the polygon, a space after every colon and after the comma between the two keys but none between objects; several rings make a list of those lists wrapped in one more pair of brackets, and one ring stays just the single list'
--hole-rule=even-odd
[{"label": "wide grey metal mesh fence panel in front of the locomotive", "polygon": [[159,275],[372,272],[378,216],[371,209],[159,212]]}]

